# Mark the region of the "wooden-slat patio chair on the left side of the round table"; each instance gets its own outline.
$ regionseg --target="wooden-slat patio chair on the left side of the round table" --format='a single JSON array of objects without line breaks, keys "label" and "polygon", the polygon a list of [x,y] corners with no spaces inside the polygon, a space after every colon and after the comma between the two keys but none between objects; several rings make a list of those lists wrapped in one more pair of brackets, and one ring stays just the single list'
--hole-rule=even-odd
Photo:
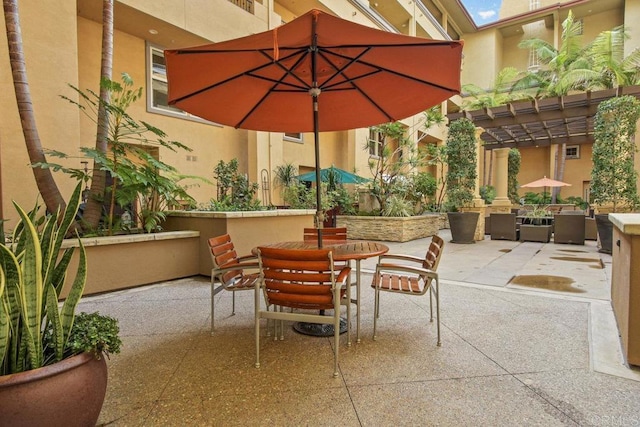
[{"label": "wooden-slat patio chair on the left side of the round table", "polygon": [[[221,290],[231,291],[231,315],[236,314],[236,291],[250,291],[260,279],[260,266],[255,255],[238,256],[231,236],[223,234],[208,240],[211,254],[211,334],[214,331],[215,295]],[[216,282],[220,286],[216,288]]]}]

